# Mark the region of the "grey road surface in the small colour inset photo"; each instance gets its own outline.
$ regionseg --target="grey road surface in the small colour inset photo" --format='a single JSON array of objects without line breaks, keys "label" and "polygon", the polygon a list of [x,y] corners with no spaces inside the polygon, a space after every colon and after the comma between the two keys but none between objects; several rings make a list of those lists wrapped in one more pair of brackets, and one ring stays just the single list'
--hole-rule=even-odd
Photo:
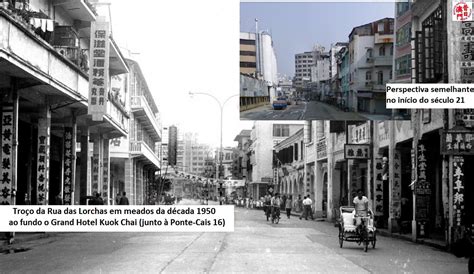
[{"label": "grey road surface in the small colour inset photo", "polygon": [[389,116],[344,112],[318,101],[298,102],[286,109],[274,110],[271,105],[242,111],[241,120],[385,120]]}]

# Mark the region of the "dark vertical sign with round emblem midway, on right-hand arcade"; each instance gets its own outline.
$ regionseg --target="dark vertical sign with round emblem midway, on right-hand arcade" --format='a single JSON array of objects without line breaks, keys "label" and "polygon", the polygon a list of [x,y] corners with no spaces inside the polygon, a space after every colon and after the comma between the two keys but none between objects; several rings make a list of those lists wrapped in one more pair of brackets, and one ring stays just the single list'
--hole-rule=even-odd
[{"label": "dark vertical sign with round emblem midway, on right-hand arcade", "polygon": [[431,184],[427,178],[428,165],[426,159],[426,147],[421,142],[418,144],[418,180],[415,184],[416,215],[417,221],[426,221],[429,217],[429,205],[431,198]]}]

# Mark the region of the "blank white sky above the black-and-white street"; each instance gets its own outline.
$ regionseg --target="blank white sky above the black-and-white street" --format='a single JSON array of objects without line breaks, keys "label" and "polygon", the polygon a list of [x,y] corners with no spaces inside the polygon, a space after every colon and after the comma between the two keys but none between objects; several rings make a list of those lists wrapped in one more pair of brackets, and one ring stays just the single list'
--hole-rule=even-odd
[{"label": "blank white sky above the black-and-white street", "polygon": [[[116,42],[139,62],[163,126],[177,125],[219,146],[221,102],[223,145],[253,122],[239,118],[239,2],[109,1]],[[198,11],[198,12],[197,12]],[[124,50],[125,51],[125,50]]]}]

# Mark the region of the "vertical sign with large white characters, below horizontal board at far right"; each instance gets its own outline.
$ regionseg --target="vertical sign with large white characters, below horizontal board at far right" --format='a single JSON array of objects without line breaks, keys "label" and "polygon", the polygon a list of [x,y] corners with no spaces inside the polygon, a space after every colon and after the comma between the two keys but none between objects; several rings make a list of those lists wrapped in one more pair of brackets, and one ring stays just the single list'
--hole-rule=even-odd
[{"label": "vertical sign with large white characters, below horizontal board at far right", "polygon": [[462,213],[464,211],[464,158],[463,156],[454,156],[453,159],[453,209],[454,209],[454,226],[461,226]]}]

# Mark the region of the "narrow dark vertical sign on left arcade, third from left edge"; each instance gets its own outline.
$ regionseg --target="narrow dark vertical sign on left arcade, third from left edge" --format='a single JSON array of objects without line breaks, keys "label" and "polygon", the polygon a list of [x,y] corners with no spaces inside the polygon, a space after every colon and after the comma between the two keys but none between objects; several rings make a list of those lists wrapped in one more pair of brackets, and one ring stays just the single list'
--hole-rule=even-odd
[{"label": "narrow dark vertical sign on left arcade, third from left edge", "polygon": [[63,185],[63,201],[65,205],[71,205],[72,201],[72,176],[73,176],[73,166],[72,166],[72,160],[73,160],[73,131],[71,127],[66,127],[64,129],[64,185]]}]

